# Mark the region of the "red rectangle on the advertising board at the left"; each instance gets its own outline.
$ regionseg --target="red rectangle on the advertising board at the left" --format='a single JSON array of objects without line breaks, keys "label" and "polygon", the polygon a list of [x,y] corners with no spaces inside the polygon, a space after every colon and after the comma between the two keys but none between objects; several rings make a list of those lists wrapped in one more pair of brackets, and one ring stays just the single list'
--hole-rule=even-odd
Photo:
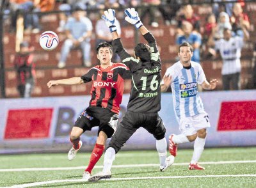
[{"label": "red rectangle on the advertising board at the left", "polygon": [[49,137],[52,108],[8,111],[4,139]]}]

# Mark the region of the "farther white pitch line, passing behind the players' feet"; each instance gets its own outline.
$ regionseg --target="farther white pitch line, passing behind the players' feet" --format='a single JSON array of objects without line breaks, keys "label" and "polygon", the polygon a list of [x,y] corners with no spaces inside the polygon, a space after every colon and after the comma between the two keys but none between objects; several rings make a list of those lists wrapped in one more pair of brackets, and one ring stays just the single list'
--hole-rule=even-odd
[{"label": "farther white pitch line, passing behind the players' feet", "polygon": [[[200,162],[200,164],[234,164],[234,163],[255,163],[256,161],[209,161]],[[173,166],[188,165],[188,162],[174,163]],[[159,164],[124,164],[124,165],[113,165],[112,168],[136,168],[146,166],[159,166]],[[72,169],[84,169],[86,166],[76,167],[56,167],[56,168],[13,168],[13,169],[0,169],[0,172],[6,171],[51,171],[51,170],[72,170]],[[103,168],[103,166],[95,166],[94,168]]]}]

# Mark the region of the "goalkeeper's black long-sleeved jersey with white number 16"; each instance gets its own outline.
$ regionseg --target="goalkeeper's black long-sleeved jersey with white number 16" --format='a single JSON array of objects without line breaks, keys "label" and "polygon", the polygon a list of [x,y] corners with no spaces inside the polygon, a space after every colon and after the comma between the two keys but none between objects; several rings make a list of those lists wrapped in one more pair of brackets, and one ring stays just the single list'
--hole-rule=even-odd
[{"label": "goalkeeper's black long-sleeved jersey with white number 16", "polygon": [[151,48],[151,59],[142,62],[124,49],[120,38],[113,40],[113,49],[129,67],[132,74],[132,88],[127,110],[138,113],[156,113],[161,109],[161,60],[156,39],[151,33],[143,35]]}]

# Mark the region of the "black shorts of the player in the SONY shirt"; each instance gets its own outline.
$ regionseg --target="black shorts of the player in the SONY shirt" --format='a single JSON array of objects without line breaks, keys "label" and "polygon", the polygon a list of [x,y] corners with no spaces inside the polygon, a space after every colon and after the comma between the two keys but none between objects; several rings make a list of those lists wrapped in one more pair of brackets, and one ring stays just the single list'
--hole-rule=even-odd
[{"label": "black shorts of the player in the SONY shirt", "polygon": [[118,114],[102,107],[90,106],[80,114],[74,127],[80,127],[86,131],[99,126],[98,136],[99,132],[103,131],[108,137],[111,137],[116,130],[117,121]]}]

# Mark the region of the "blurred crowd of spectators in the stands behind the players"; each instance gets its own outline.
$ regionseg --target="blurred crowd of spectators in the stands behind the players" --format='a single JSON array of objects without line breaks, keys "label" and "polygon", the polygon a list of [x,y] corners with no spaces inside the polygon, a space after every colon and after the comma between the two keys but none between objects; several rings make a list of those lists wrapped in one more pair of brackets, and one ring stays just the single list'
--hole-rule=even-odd
[{"label": "blurred crowd of spectators in the stands behind the players", "polygon": [[[250,19],[244,12],[246,4],[243,0],[237,0],[237,3],[214,2],[211,4],[211,12],[207,14],[206,19],[195,13],[195,6],[188,4],[191,1],[182,0],[11,0],[7,1],[4,13],[6,13],[5,17],[8,15],[11,17],[10,31],[15,31],[17,17],[22,12],[24,13],[24,33],[39,33],[43,31],[44,26],[40,24],[42,15],[38,12],[56,11],[59,22],[56,31],[64,33],[67,38],[61,45],[60,59],[56,66],[64,68],[70,51],[81,49],[83,54],[81,65],[92,67],[95,64],[92,62],[92,53],[90,53],[92,47],[96,47],[102,41],[111,43],[111,33],[108,31],[108,27],[101,19],[97,19],[96,24],[92,23],[90,20],[92,13],[98,10],[100,18],[102,10],[115,8],[116,17],[124,20],[125,15],[122,10],[127,7],[135,7],[141,15],[141,20],[148,26],[159,27],[159,24],[175,26],[176,47],[179,47],[182,42],[189,42],[194,49],[193,61],[200,63],[204,58],[220,57],[223,60],[221,70],[223,90],[239,90],[241,88],[240,58],[243,56],[241,50],[244,43],[250,38],[249,31],[252,29]],[[119,34],[121,26],[125,27],[126,25],[125,22],[117,24]],[[228,39],[225,38],[227,29],[230,31]],[[93,31],[95,31],[94,45],[90,42]],[[223,45],[225,41],[226,44]],[[231,51],[230,45],[233,45],[234,41],[237,44]],[[220,48],[220,43],[225,48]],[[91,45],[93,46],[91,47]],[[113,57],[113,62],[120,61],[115,54]]]}]

